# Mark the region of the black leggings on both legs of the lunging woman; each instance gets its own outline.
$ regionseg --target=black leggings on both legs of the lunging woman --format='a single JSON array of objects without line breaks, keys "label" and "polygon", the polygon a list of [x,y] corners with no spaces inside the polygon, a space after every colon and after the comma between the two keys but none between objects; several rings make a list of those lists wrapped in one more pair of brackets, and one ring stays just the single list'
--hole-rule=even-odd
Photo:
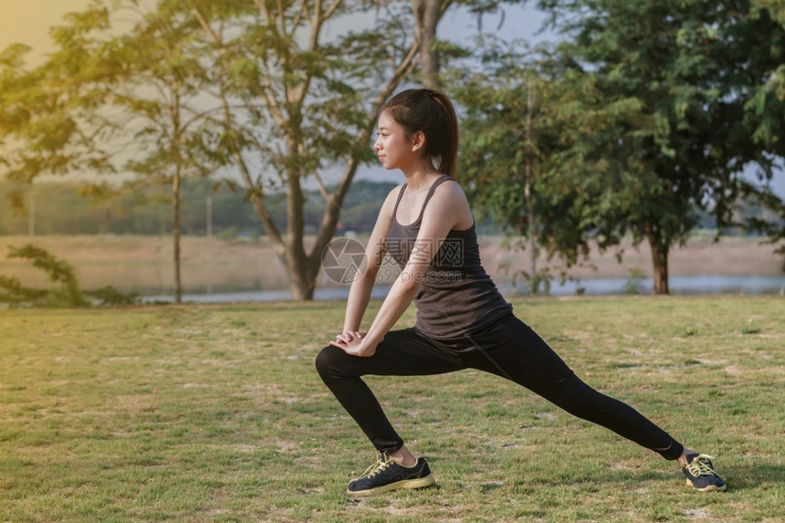
[{"label": "black leggings on both legs of the lunging woman", "polygon": [[684,447],[626,403],[595,391],[570,370],[534,330],[513,315],[476,336],[461,350],[426,338],[416,329],[391,330],[369,358],[350,356],[338,347],[319,352],[316,368],[372,444],[392,453],[403,439],[361,376],[424,376],[478,369],[523,385],[564,409],[601,424],[665,459]]}]

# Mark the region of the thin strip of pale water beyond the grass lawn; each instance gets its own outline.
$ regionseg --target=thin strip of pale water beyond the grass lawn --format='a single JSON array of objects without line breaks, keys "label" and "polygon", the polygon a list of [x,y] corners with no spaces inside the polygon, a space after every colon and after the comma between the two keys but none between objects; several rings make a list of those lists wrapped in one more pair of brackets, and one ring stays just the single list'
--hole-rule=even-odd
[{"label": "thin strip of pale water beyond the grass lawn", "polygon": [[[551,282],[550,296],[574,296],[582,289],[585,296],[613,296],[629,292],[633,283],[629,278],[597,278],[582,279],[580,282],[568,281],[560,285]],[[634,281],[639,294],[651,294],[654,284],[652,278],[641,278]],[[747,295],[785,295],[785,276],[782,277],[733,277],[733,276],[696,276],[671,277],[669,279],[671,294],[747,294]],[[372,298],[384,298],[389,288],[373,288]],[[501,284],[499,290],[508,298],[524,294],[524,288],[513,288]],[[346,299],[349,287],[318,288],[314,292],[316,300]],[[143,302],[171,302],[172,296],[145,296]],[[213,294],[183,294],[183,302],[193,303],[233,303],[247,301],[288,301],[291,294],[288,290],[260,290],[240,292],[219,292]]]}]

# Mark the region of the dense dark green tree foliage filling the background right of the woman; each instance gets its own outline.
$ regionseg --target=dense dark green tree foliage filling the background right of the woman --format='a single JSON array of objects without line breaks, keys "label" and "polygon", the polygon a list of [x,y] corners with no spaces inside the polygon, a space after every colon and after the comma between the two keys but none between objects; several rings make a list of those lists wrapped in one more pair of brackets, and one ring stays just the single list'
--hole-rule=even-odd
[{"label": "dense dark green tree foliage filling the background right of the woman", "polygon": [[[481,42],[482,67],[462,72],[464,162],[481,208],[565,263],[633,235],[654,252],[666,293],[671,247],[712,214],[785,237],[785,204],[768,184],[783,154],[780,93],[785,24],[761,1],[542,0],[554,49]],[[525,140],[524,99],[537,93]],[[534,166],[526,209],[523,165]],[[744,173],[759,166],[758,183]],[[773,219],[740,220],[742,204]],[[535,231],[531,233],[530,231]]]}]

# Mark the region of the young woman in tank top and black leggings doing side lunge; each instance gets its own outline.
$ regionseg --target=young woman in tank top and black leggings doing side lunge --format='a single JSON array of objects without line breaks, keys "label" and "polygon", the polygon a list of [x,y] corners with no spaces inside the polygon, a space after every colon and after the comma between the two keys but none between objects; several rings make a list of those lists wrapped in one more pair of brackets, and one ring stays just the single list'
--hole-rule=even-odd
[{"label": "young woman in tank top and black leggings doing side lunge", "polygon": [[[387,196],[352,285],[343,332],[319,352],[321,379],[378,452],[348,492],[363,496],[434,484],[361,380],[479,369],[516,382],[565,411],[677,460],[687,484],[725,490],[711,456],[677,442],[629,405],[593,390],[518,319],[480,264],[474,218],[455,182],[458,123],[453,104],[432,89],[411,89],[382,110],[374,150],[406,183]],[[401,267],[371,327],[361,330],[382,258]],[[391,330],[414,301],[413,328]]]}]

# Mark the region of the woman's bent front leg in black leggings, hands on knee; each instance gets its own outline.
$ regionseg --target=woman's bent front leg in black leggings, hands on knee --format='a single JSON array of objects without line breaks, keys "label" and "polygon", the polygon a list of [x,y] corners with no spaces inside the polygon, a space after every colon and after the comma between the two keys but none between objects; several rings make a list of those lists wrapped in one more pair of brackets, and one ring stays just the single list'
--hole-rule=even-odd
[{"label": "woman's bent front leg in black leggings, hands on knee", "polygon": [[361,376],[421,376],[459,371],[466,365],[434,348],[414,329],[403,329],[388,332],[376,353],[368,358],[351,356],[332,345],[325,347],[316,358],[316,368],[373,446],[390,454],[401,448],[403,439]]}]

